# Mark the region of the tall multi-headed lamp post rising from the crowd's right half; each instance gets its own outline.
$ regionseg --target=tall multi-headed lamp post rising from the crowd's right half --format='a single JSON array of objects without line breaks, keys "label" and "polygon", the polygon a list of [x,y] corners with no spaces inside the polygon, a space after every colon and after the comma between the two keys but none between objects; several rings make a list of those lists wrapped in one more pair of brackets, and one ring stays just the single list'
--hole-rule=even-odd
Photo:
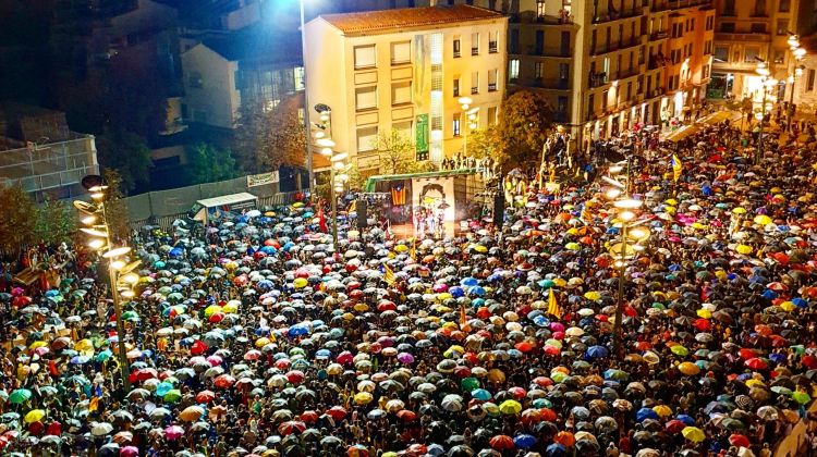
[{"label": "tall multi-headed lamp post rising from the crowd's right half", "polygon": [[608,170],[611,175],[615,175],[622,171],[625,171],[625,175],[622,176],[623,182],[612,176],[602,176],[602,180],[611,185],[605,195],[608,199],[612,200],[612,206],[615,209],[617,217],[612,221],[612,224],[614,227],[621,230],[619,243],[609,248],[609,252],[614,260],[614,267],[619,269],[619,293],[613,318],[613,353],[615,357],[621,355],[621,321],[624,311],[624,275],[626,273],[626,264],[639,250],[644,249],[639,243],[649,238],[649,231],[639,226],[645,220],[635,220],[637,217],[635,211],[644,205],[644,201],[631,198],[629,195],[630,159],[627,159],[625,166],[613,165]]}]

